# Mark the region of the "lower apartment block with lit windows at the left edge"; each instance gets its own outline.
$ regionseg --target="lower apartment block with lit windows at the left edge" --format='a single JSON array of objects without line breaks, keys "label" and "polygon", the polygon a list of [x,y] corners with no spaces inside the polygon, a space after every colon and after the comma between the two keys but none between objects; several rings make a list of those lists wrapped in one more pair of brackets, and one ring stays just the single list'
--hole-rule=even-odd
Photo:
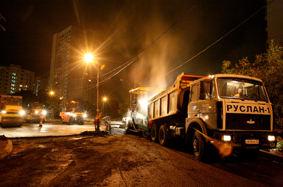
[{"label": "lower apartment block with lit windows at the left edge", "polygon": [[16,91],[33,90],[34,72],[11,64],[0,66],[0,94],[15,94]]}]

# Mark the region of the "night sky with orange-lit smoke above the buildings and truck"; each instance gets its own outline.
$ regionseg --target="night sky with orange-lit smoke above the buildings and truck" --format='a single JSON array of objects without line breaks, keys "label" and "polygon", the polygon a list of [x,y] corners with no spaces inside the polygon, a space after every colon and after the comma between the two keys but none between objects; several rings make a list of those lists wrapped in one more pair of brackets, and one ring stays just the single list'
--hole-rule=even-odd
[{"label": "night sky with orange-lit smoke above the buildings and truck", "polygon": [[[237,63],[266,51],[265,10],[182,67],[160,78],[220,39],[264,6],[264,0],[110,1],[2,0],[0,64],[48,76],[52,37],[70,25],[87,31],[88,46],[107,73],[138,55],[176,23],[135,62],[101,85],[103,95],[129,99],[136,87],[167,88],[178,74],[220,73],[222,61]],[[185,14],[188,12],[187,14]],[[83,44],[82,44],[83,45]],[[96,71],[96,70],[94,70]],[[160,78],[160,79],[156,79]],[[150,80],[155,80],[148,82]],[[145,83],[148,82],[148,83]],[[143,84],[139,84],[143,83]]]}]

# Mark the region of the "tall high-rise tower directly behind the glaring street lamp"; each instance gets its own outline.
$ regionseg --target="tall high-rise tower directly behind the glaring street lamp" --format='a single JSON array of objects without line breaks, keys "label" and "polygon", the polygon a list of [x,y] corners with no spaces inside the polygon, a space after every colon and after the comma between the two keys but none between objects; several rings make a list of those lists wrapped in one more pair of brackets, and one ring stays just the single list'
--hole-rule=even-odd
[{"label": "tall high-rise tower directly behind the glaring street lamp", "polygon": [[69,26],[54,34],[49,88],[57,97],[91,101],[90,68],[84,61],[84,31]]}]

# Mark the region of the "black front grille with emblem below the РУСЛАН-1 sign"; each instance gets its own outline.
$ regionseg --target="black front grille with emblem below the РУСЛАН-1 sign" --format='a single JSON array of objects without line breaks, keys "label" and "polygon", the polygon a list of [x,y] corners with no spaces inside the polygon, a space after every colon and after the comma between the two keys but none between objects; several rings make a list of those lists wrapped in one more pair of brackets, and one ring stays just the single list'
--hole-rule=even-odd
[{"label": "black front grille with emblem below the \u0420\u0423\u0421\u041b\u0410\u041d-1 sign", "polygon": [[226,130],[271,130],[270,115],[226,114]]}]

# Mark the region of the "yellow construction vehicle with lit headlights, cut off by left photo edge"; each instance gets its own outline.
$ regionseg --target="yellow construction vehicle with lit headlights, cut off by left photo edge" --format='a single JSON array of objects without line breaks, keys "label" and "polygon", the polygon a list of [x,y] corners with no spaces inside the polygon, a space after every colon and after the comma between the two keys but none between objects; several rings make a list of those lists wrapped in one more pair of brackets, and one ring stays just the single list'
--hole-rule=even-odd
[{"label": "yellow construction vehicle with lit headlights, cut off by left photo edge", "polygon": [[0,95],[1,127],[20,127],[24,123],[22,96]]}]

